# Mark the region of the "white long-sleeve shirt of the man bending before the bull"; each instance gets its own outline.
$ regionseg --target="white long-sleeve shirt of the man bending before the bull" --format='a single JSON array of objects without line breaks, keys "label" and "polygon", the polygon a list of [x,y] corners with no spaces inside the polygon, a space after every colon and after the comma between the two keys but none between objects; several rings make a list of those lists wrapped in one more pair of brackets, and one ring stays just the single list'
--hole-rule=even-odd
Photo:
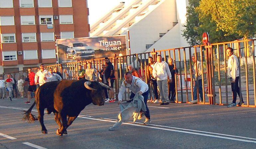
[{"label": "white long-sleeve shirt of the man bending before the bull", "polygon": [[127,83],[124,80],[119,89],[118,100],[121,100],[121,101],[123,100],[123,94],[124,94],[126,88],[129,88],[134,94],[136,94],[138,91],[145,93],[148,90],[148,84],[146,84],[145,82],[143,82],[140,78],[138,78],[136,76],[132,76],[131,84]]}]

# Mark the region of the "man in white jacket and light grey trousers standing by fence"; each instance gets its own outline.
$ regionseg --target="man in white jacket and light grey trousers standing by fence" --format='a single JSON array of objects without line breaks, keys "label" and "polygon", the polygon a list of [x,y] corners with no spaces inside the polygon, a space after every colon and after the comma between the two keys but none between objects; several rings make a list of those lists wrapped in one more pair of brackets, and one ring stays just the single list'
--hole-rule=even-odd
[{"label": "man in white jacket and light grey trousers standing by fence", "polygon": [[157,86],[159,87],[162,103],[161,105],[169,104],[168,99],[168,84],[167,80],[172,79],[172,75],[168,64],[162,61],[162,56],[157,56],[157,62],[154,64],[153,76],[157,79]]}]

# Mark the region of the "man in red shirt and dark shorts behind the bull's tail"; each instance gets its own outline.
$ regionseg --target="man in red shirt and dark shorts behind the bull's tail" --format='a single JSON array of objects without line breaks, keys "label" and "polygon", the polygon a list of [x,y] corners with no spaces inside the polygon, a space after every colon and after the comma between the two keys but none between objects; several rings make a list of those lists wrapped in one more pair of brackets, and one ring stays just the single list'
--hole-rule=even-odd
[{"label": "man in red shirt and dark shorts behind the bull's tail", "polygon": [[32,69],[29,68],[28,69],[28,73],[29,73],[29,88],[28,88],[28,101],[25,102],[25,104],[30,104],[30,99],[31,99],[31,93],[35,92],[37,90],[37,86],[35,83],[35,73],[32,72]]}]

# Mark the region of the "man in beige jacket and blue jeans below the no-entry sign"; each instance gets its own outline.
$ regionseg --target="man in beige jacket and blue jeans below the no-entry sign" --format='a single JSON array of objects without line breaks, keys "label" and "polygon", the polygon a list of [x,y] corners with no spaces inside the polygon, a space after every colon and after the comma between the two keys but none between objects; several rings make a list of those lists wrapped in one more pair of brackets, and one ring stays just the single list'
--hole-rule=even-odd
[{"label": "man in beige jacket and blue jeans below the no-entry sign", "polygon": [[[200,98],[201,100],[199,102],[201,102],[203,100],[203,88],[202,88],[202,67],[201,67],[201,62],[197,61],[195,62],[195,56],[192,56],[192,61],[193,61],[193,74],[194,74],[194,91],[193,91],[193,97],[194,100],[191,101],[191,103],[197,103],[197,80],[198,80],[198,88],[199,88],[199,94],[200,94]],[[197,74],[196,74],[196,64],[197,64]],[[198,75],[198,76],[197,76]]]}]

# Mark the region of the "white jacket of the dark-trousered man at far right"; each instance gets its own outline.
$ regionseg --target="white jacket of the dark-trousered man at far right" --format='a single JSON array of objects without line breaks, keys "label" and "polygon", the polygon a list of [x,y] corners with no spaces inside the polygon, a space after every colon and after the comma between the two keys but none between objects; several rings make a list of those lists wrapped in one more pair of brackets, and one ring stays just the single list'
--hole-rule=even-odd
[{"label": "white jacket of the dark-trousered man at far right", "polygon": [[239,76],[239,69],[238,69],[238,59],[233,54],[228,58],[227,62],[227,73],[228,76],[232,78],[232,81],[235,81],[236,77]]}]

